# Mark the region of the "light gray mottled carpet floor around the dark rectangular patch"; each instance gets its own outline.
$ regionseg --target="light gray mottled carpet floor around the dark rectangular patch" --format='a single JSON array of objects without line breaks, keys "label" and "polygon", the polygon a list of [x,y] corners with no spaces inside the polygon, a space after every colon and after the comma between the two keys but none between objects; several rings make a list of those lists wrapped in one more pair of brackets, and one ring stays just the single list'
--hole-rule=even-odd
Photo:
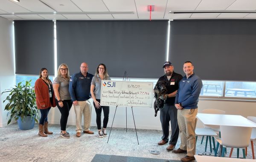
[{"label": "light gray mottled carpet floor around the dark rectangular patch", "polygon": [[[167,151],[165,145],[157,145],[162,136],[160,130],[138,129],[138,140],[135,129],[113,128],[111,136],[99,138],[96,127],[91,127],[95,132],[93,135],[84,134],[80,138],[76,137],[76,127],[69,125],[67,131],[70,139],[60,136],[60,126],[49,124],[49,130],[53,135],[48,137],[38,136],[38,125],[32,130],[19,130],[17,124],[0,127],[0,161],[1,162],[91,162],[96,154],[142,157],[150,159],[180,160],[185,154],[175,154]],[[108,129],[108,133],[109,133]],[[201,137],[198,137],[197,154],[209,154],[204,152],[204,143],[200,144]],[[255,142],[254,142],[255,143]],[[176,148],[180,145],[178,140]],[[254,146],[255,147],[255,146]],[[150,150],[160,151],[159,155],[149,153]],[[227,150],[229,154],[230,149]],[[242,156],[242,153],[240,151]],[[236,156],[236,149],[233,151]],[[248,148],[248,159],[252,159],[251,148]]]}]

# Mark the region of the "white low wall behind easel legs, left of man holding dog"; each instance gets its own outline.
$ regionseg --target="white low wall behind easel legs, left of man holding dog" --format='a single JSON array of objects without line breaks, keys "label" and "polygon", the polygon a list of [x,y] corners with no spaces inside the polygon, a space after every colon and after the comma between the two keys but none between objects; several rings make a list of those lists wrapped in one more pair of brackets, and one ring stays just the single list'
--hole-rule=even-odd
[{"label": "white low wall behind easel legs, left of man holding dog", "polygon": [[[115,119],[113,122],[113,116],[116,110]],[[158,112],[157,117],[154,117],[154,109],[153,108],[145,108],[145,107],[133,107],[134,120],[136,124],[136,128],[138,129],[154,129],[161,130],[160,118]],[[103,112],[102,112],[102,122],[103,122]],[[48,115],[49,123],[59,124],[60,123],[61,113],[58,108],[52,108]],[[131,107],[127,107],[127,127],[134,128],[134,120],[132,115]],[[83,120],[82,120],[83,121]],[[126,116],[125,116],[125,107],[110,107],[109,113],[109,121],[108,127],[111,127],[113,122],[113,127],[126,127]],[[70,115],[68,119],[68,124],[76,125],[76,114],[74,108],[72,107],[70,110]],[[83,124],[83,122],[82,122]],[[91,118],[91,126],[96,126],[96,113],[94,107],[92,108],[92,118]]]}]

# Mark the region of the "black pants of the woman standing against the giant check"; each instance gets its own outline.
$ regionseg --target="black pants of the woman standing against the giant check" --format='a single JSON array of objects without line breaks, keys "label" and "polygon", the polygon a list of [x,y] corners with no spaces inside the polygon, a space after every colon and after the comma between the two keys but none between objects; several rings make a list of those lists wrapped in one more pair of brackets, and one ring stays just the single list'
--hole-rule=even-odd
[{"label": "black pants of the woman standing against the giant check", "polygon": [[[96,99],[96,101],[98,101],[100,103],[99,99]],[[102,113],[102,109],[103,109],[103,113],[104,113],[103,128],[107,128],[107,125],[108,125],[108,115],[109,115],[109,106],[101,106],[98,109],[98,108],[96,108],[94,102],[93,102],[93,105],[94,105],[95,112],[96,112],[96,123],[97,123],[98,130],[101,129],[101,113]]]}]

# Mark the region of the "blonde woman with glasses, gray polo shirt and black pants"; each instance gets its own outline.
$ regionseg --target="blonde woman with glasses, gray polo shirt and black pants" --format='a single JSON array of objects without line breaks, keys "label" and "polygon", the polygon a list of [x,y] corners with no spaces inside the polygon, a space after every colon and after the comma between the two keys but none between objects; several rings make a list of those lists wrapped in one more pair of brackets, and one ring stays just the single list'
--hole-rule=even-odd
[{"label": "blonde woman with glasses, gray polo shirt and black pants", "polygon": [[70,108],[72,107],[72,100],[69,93],[70,75],[67,64],[61,64],[58,67],[58,76],[53,81],[53,90],[55,93],[55,102],[61,112],[61,136],[65,139],[70,138],[66,131],[67,119]]}]

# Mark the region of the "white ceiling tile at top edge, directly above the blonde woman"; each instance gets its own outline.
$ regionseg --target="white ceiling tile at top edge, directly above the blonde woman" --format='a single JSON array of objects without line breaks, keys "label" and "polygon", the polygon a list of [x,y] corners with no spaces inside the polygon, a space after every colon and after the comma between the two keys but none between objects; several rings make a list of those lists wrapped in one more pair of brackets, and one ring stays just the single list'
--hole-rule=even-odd
[{"label": "white ceiling tile at top edge, directly above the blonde woman", "polygon": [[[41,0],[57,12],[81,12],[71,0]],[[63,5],[63,6],[62,6]]]}]

